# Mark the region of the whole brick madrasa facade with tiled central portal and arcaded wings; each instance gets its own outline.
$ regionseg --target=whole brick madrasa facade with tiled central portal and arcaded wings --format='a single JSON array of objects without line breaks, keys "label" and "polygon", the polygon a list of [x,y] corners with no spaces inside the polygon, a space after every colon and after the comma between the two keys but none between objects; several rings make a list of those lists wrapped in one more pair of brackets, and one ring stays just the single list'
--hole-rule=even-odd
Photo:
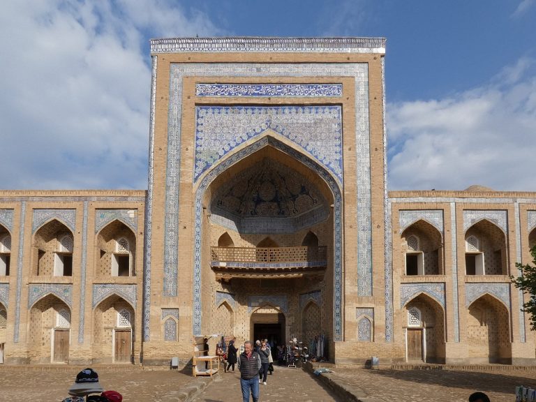
[{"label": "whole brick madrasa facade with tiled central portal and arcaded wings", "polygon": [[151,40],[147,189],[0,191],[0,364],[182,364],[193,336],[535,364],[509,276],[536,193],[387,192],[384,57],[383,38]]}]

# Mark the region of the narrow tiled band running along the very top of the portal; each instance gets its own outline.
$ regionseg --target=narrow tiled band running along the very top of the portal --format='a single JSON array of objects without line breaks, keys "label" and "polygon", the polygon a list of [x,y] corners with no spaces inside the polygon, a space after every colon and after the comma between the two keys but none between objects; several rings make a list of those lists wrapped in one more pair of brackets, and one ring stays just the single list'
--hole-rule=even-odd
[{"label": "narrow tiled band running along the very top of the portal", "polygon": [[343,52],[385,54],[385,38],[151,39],[151,54],[177,52]]}]

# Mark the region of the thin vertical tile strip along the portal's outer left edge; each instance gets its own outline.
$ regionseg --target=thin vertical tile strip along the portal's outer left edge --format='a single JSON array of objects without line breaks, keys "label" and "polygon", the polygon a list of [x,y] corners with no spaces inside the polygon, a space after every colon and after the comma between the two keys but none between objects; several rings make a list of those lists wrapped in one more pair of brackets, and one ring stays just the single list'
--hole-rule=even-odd
[{"label": "thin vertical tile strip along the portal's outer left edge", "polygon": [[151,338],[151,239],[153,223],[153,191],[154,191],[154,112],[156,105],[156,66],[158,57],[152,56],[151,73],[151,110],[149,112],[149,174],[147,183],[147,199],[145,200],[145,228],[143,238],[143,340]]}]

